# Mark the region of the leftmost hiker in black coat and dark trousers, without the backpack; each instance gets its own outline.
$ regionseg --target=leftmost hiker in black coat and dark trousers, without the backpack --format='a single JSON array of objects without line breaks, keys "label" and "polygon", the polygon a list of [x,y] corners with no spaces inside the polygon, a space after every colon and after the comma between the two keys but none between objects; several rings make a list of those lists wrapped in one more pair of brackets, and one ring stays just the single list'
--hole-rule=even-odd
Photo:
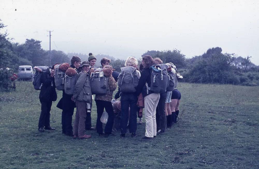
[{"label": "leftmost hiker in black coat and dark trousers, without the backpack", "polygon": [[41,87],[39,99],[41,103],[41,113],[38,123],[38,130],[40,132],[44,132],[45,130],[55,130],[55,128],[50,126],[50,110],[52,102],[57,100],[57,93],[55,89],[56,86],[54,81],[55,65],[43,72],[40,78]]}]

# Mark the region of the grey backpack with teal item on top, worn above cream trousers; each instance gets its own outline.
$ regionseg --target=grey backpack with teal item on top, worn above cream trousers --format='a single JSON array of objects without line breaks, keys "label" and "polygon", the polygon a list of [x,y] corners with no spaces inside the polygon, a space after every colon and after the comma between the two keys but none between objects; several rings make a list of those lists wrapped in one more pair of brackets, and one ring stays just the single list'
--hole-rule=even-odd
[{"label": "grey backpack with teal item on top, worn above cream trousers", "polygon": [[[154,93],[164,93],[169,85],[169,76],[167,74],[168,66],[165,64],[153,65],[150,67],[151,83],[150,90]],[[159,70],[160,69],[160,70]]]}]

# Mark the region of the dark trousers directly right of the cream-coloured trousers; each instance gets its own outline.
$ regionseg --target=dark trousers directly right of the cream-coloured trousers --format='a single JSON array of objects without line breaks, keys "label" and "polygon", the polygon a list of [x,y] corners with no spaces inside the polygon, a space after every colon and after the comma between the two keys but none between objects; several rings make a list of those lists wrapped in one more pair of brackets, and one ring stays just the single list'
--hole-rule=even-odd
[{"label": "dark trousers directly right of the cream-coloured trousers", "polygon": [[165,93],[160,93],[160,99],[156,108],[156,128],[158,130],[166,131],[166,95]]}]

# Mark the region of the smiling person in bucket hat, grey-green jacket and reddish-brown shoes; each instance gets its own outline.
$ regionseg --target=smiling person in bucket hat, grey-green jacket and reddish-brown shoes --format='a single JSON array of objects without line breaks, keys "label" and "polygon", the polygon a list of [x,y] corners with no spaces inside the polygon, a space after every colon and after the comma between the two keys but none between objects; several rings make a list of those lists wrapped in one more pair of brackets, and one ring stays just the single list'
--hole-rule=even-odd
[{"label": "smiling person in bucket hat, grey-green jacket and reddish-brown shoes", "polygon": [[92,92],[90,87],[90,78],[87,73],[90,68],[90,62],[83,61],[80,66],[81,72],[77,75],[75,91],[71,100],[76,102],[76,117],[74,122],[73,137],[79,139],[91,138],[91,135],[86,135],[84,132],[85,119],[87,111],[90,111],[92,103]]}]

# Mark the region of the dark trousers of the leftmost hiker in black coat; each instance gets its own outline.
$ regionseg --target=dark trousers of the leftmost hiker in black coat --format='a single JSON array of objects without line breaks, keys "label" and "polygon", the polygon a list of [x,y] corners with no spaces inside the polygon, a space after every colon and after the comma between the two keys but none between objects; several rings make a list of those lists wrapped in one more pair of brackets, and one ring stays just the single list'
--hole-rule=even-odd
[{"label": "dark trousers of the leftmost hiker in black coat", "polygon": [[51,110],[51,105],[52,101],[41,101],[41,113],[40,113],[40,118],[39,118],[39,124],[38,127],[49,127],[49,118],[50,118],[50,110]]}]

